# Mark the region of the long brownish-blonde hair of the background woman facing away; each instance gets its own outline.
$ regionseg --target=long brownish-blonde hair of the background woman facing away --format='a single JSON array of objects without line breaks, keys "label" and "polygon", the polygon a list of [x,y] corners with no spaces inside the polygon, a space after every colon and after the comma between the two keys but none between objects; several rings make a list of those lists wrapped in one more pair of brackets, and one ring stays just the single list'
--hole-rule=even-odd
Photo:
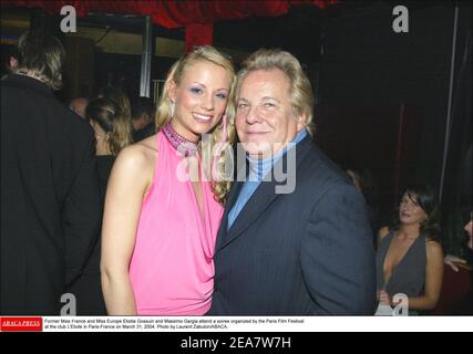
[{"label": "long brownish-blonde hair of the background woman facing away", "polygon": [[92,101],[85,114],[109,134],[106,143],[113,156],[132,143],[130,119],[112,100],[101,97]]}]

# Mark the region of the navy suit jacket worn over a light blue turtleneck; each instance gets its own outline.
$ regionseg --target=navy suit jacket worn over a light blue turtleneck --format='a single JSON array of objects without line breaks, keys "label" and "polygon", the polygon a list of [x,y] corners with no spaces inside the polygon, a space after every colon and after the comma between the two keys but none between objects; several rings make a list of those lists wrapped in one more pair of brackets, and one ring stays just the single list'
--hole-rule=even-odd
[{"label": "navy suit jacket worn over a light blue turtleneck", "polygon": [[[372,314],[376,268],[366,202],[310,140],[296,147],[296,189],[264,181],[215,250],[213,315]],[[280,162],[280,164],[282,160]]]}]

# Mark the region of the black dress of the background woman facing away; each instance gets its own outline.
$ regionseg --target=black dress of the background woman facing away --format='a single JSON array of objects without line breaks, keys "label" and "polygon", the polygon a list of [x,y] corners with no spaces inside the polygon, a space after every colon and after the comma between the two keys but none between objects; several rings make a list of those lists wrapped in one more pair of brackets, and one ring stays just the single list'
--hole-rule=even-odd
[{"label": "black dress of the background woman facing away", "polygon": [[[112,155],[96,156],[102,206],[105,201],[106,184],[115,157]],[[78,315],[106,315],[100,277],[101,241],[102,238],[99,237],[81,278],[69,289],[69,292],[75,295]]]}]

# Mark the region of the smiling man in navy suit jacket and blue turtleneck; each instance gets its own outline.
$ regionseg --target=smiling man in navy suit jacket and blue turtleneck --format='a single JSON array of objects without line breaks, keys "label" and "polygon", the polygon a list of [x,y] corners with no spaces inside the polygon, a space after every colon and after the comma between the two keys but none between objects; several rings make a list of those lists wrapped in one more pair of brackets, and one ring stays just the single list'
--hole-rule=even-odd
[{"label": "smiling man in navy suit jacket and blue turtleneck", "polygon": [[309,136],[313,95],[297,59],[279,50],[250,55],[236,106],[249,173],[228,196],[209,314],[372,314],[366,204]]}]

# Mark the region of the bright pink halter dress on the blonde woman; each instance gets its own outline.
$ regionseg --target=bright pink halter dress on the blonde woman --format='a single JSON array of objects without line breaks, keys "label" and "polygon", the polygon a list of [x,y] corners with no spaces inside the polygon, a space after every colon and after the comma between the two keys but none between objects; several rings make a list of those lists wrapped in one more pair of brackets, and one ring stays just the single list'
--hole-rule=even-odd
[{"label": "bright pink halter dress on the blonde woman", "polygon": [[[153,185],[142,205],[130,279],[138,315],[203,315],[212,303],[214,248],[223,207],[202,181],[203,211],[192,181],[178,177],[183,155],[156,134]],[[194,157],[195,158],[195,157]]]}]

